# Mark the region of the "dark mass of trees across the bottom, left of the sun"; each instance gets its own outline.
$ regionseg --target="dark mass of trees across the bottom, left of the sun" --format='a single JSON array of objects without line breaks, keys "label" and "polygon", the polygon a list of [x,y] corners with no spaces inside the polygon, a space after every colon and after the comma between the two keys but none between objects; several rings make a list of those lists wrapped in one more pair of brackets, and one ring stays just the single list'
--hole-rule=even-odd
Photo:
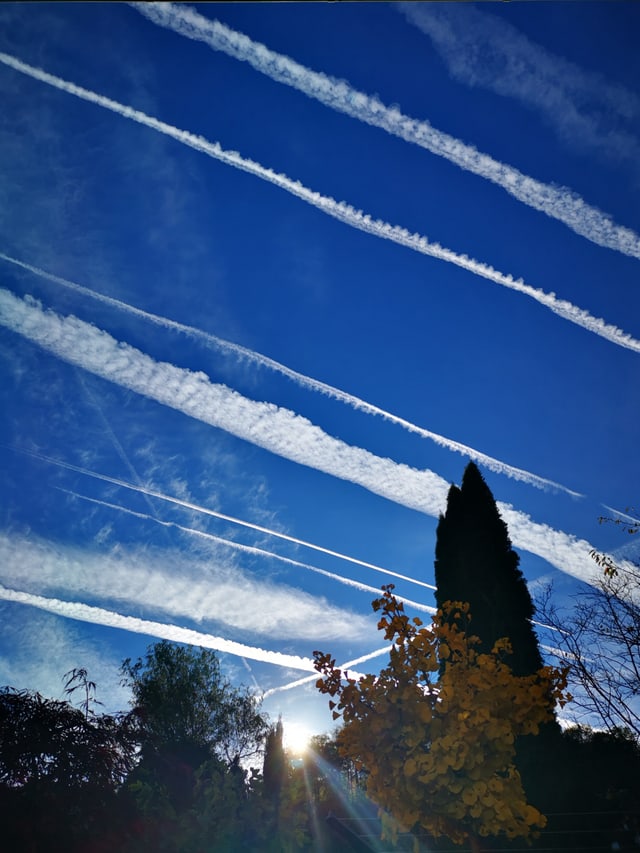
[{"label": "dark mass of trees across the bottom, left of the sun", "polygon": [[95,684],[67,674],[80,707],[0,690],[2,849],[71,853],[267,850],[261,774],[270,729],[216,655],[167,642],[126,660],[128,713],[96,712]]}]

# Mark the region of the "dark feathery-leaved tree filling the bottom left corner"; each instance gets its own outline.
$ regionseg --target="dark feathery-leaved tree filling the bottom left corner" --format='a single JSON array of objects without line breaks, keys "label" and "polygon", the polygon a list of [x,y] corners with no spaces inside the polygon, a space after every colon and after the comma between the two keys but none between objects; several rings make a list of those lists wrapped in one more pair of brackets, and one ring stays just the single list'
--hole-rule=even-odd
[{"label": "dark feathery-leaved tree filling the bottom left corner", "polygon": [[136,744],[131,714],[87,714],[39,693],[2,688],[3,849],[97,853]]}]

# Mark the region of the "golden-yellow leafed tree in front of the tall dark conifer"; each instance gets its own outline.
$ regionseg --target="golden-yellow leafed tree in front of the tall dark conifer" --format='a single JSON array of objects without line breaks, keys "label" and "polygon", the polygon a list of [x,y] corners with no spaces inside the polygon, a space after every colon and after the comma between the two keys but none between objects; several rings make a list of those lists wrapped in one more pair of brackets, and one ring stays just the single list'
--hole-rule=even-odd
[{"label": "golden-yellow leafed tree in front of the tall dark conifer", "polygon": [[317,686],[336,697],[329,704],[343,721],[340,751],[366,768],[367,792],[392,816],[385,833],[423,829],[474,849],[478,836],[529,836],[545,818],[526,801],[515,738],[550,719],[550,699],[564,703],[565,674],[541,667],[518,676],[505,661],[507,639],[486,652],[469,633],[467,604],[445,603],[421,627],[392,588],[373,602],[393,643],[379,675],[343,683],[335,660],[314,653],[324,675]]}]

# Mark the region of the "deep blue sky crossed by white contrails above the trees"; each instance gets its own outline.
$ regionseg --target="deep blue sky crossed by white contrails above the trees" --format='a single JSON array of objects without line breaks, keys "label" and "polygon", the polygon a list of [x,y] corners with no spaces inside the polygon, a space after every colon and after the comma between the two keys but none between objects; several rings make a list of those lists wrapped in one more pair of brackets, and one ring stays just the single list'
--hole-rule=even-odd
[{"label": "deep blue sky crossed by white contrails above the trees", "polygon": [[433,605],[470,457],[533,592],[633,558],[637,5],[0,24],[0,683],[123,708],[168,637],[328,730],[290,685]]}]

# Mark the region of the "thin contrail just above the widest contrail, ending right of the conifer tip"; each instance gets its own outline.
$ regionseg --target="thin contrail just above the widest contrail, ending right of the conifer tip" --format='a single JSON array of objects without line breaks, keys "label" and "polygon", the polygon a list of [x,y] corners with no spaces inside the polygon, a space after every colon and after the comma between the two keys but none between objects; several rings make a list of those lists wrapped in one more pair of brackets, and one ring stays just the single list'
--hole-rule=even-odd
[{"label": "thin contrail just above the widest contrail, ending right of the conifer tip", "polygon": [[[216,349],[230,353],[238,360],[244,359],[252,362],[253,364],[257,364],[260,367],[264,367],[268,370],[272,370],[276,373],[279,373],[282,376],[285,376],[287,379],[290,379],[292,382],[295,382],[297,385],[302,388],[306,388],[310,391],[316,391],[320,394],[324,394],[331,399],[338,400],[345,405],[351,406],[353,409],[357,411],[364,412],[365,414],[379,416],[383,420],[386,420],[390,423],[398,424],[399,426],[406,429],[408,432],[415,433],[419,435],[421,438],[428,438],[431,441],[438,444],[440,447],[445,447],[447,450],[452,450],[455,453],[460,453],[463,456],[468,457],[469,459],[473,459],[474,462],[477,462],[479,465],[483,465],[485,468],[488,468],[490,471],[494,471],[497,474],[504,474],[507,477],[511,477],[514,480],[519,480],[520,482],[527,483],[530,486],[534,486],[539,489],[552,489],[565,492],[572,497],[583,497],[579,492],[573,491],[572,489],[567,488],[566,486],[561,485],[560,483],[556,483],[553,480],[549,480],[546,477],[540,477],[537,474],[533,474],[530,471],[525,471],[522,468],[516,468],[513,465],[509,465],[506,462],[502,462],[500,459],[495,459],[492,456],[488,456],[486,453],[482,453],[479,450],[475,450],[473,447],[469,447],[466,444],[462,444],[459,441],[454,441],[450,438],[445,438],[445,436],[439,435],[438,433],[432,432],[431,430],[424,429],[423,427],[417,426],[411,421],[405,420],[405,418],[401,418],[398,415],[394,415],[391,412],[386,411],[385,409],[381,409],[379,406],[374,405],[373,403],[368,403],[366,400],[362,400],[360,397],[355,396],[354,394],[349,394],[347,391],[342,391],[340,388],[335,388],[333,385],[329,385],[326,382],[321,382],[318,379],[313,379],[311,376],[306,376],[304,373],[299,373],[297,370],[293,370],[290,367],[280,363],[279,361],[275,361],[272,358],[269,358],[262,353],[255,352],[254,350],[248,349],[247,347],[240,346],[239,344],[232,343],[231,341],[226,341],[223,338],[219,338],[217,335],[212,335],[209,332],[204,332],[201,329],[195,328],[194,326],[188,326],[185,323],[178,323],[175,320],[170,320],[167,317],[160,317],[157,314],[152,314],[149,311],[143,311],[141,308],[136,308],[133,305],[130,305],[127,302],[123,302],[120,299],[114,299],[111,296],[105,296],[102,293],[98,293],[95,290],[91,290],[88,287],[84,287],[81,284],[77,284],[74,281],[69,281],[68,279],[61,278],[60,276],[54,275],[53,273],[46,272],[45,270],[40,269],[39,267],[35,267],[32,264],[25,263],[24,261],[20,261],[17,258],[11,257],[11,255],[6,255],[4,252],[0,252],[0,259],[7,261],[10,264],[14,264],[21,269],[27,270],[28,272],[33,273],[41,278],[44,278],[48,281],[53,282],[54,284],[59,284],[62,287],[66,287],[69,290],[72,290],[75,293],[78,293],[82,296],[87,296],[90,299],[95,299],[98,302],[102,302],[105,305],[109,305],[112,308],[116,308],[119,311],[123,311],[127,314],[131,314],[134,317],[140,317],[143,320],[154,323],[158,326],[161,326],[165,329],[169,329],[171,331],[181,332],[185,335],[188,335],[191,338],[195,338],[197,340],[202,340],[205,344],[211,347],[215,347]],[[105,424],[107,429],[110,429],[108,424]],[[119,443],[115,436],[112,436],[116,448],[119,447]],[[121,448],[118,451],[122,456]],[[125,464],[127,467],[130,467],[130,463],[126,457],[124,457]]]}]

